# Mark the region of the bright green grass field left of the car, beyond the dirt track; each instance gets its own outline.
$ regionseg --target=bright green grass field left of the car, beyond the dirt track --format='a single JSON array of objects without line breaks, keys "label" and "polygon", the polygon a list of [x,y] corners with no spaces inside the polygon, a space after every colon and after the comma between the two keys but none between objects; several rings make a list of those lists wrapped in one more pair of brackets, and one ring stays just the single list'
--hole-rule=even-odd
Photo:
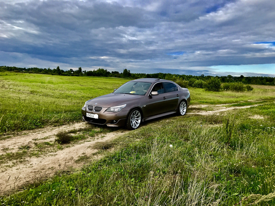
[{"label": "bright green grass field left of the car, beyond the dirt track", "polygon": [[0,72],[0,134],[80,121],[85,101],[129,80]]}]

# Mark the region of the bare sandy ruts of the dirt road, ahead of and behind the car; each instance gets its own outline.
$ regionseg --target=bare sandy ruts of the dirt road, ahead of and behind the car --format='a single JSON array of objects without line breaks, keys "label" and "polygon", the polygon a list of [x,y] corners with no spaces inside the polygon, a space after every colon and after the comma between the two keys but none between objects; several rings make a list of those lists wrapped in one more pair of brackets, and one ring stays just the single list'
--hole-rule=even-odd
[{"label": "bare sandy ruts of the dirt road, ahead of and behind the car", "polygon": [[[201,114],[201,115],[211,115],[218,114],[219,112],[225,112],[233,109],[248,108],[252,106],[241,106],[241,107],[229,107],[224,106],[229,104],[223,104],[215,106],[213,111],[196,111],[188,112],[189,114]],[[195,107],[206,107],[207,105],[196,105]],[[253,105],[257,106],[257,105]],[[68,124],[60,127],[47,127],[42,129],[23,131],[17,133],[17,135],[11,138],[0,141],[0,154],[5,154],[6,152],[16,152],[19,151],[18,146],[21,144],[29,143],[30,146],[34,146],[34,141],[52,141],[55,138],[55,134],[60,131],[69,131],[72,129],[85,128],[89,124],[86,122],[80,122],[75,124]],[[98,142],[105,142],[117,138],[121,134],[129,132],[125,129],[119,129],[115,132],[110,132],[107,134],[99,134],[96,138],[88,138],[78,144],[72,145],[70,147],[64,147],[62,150],[56,152],[49,152],[43,157],[31,157],[22,163],[9,164],[4,171],[0,171],[0,194],[5,194],[7,191],[18,190],[23,185],[28,183],[33,183],[36,180],[47,179],[54,175],[56,171],[67,170],[71,168],[80,168],[84,163],[76,163],[75,160],[83,155],[91,155],[98,150],[94,148]],[[100,157],[95,157],[100,158]]]}]

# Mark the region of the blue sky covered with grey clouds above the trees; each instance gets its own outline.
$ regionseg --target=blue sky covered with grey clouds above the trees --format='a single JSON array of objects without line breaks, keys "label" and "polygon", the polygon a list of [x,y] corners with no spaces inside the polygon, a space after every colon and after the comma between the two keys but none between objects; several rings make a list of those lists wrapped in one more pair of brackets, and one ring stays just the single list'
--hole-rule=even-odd
[{"label": "blue sky covered with grey clouds above the trees", "polygon": [[0,66],[275,76],[275,1],[0,0]]}]

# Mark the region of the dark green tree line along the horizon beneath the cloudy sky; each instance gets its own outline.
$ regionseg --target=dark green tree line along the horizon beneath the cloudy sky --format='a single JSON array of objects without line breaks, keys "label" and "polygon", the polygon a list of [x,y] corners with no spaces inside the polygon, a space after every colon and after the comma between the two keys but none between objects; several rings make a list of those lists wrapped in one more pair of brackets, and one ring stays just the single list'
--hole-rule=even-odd
[{"label": "dark green tree line along the horizon beneath the cloudy sky", "polygon": [[[9,66],[0,66],[0,72],[4,71],[13,71],[13,72],[28,72],[28,73],[36,73],[36,74],[51,74],[51,75],[62,75],[62,76],[96,76],[96,77],[116,77],[116,78],[130,78],[130,79],[139,79],[139,78],[159,78],[159,79],[166,79],[172,81],[189,81],[196,82],[197,80],[202,80],[206,82],[207,80],[211,79],[213,76],[193,76],[193,75],[180,75],[180,74],[169,74],[169,73],[155,73],[155,74],[145,74],[145,73],[138,73],[138,74],[131,74],[130,70],[124,69],[123,72],[112,71],[109,72],[106,69],[99,68],[93,71],[82,71],[82,68],[79,67],[78,70],[67,70],[64,71],[60,69],[58,66],[55,69],[51,68],[19,68],[19,67],[9,67]],[[241,76],[216,76],[221,83],[232,83],[232,82],[242,82],[243,84],[259,84],[259,85],[273,85],[275,84],[274,77],[245,77]],[[198,82],[197,82],[198,83]]]}]

